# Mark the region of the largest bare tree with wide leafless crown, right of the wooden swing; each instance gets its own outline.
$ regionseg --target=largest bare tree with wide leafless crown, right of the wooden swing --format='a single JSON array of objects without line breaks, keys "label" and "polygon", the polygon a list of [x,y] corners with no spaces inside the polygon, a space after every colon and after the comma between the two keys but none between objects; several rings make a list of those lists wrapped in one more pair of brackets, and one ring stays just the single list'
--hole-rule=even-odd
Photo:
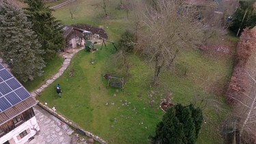
[{"label": "largest bare tree with wide leafless crown, right of the wooden swing", "polygon": [[[184,1],[155,0],[140,15],[139,51],[155,63],[153,85],[158,83],[162,68],[171,68],[183,48],[197,48],[203,40],[202,27],[195,18],[198,9]],[[142,8],[140,8],[142,9]]]}]

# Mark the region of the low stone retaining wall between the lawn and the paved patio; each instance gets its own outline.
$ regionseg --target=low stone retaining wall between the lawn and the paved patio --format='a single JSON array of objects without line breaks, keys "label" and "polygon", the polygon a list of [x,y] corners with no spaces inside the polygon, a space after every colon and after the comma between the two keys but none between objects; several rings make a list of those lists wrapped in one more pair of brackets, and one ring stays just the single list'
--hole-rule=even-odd
[{"label": "low stone retaining wall between the lawn and the paved patio", "polygon": [[107,144],[106,141],[104,141],[103,139],[101,139],[99,136],[96,136],[94,134],[92,134],[91,132],[88,132],[86,130],[83,130],[83,128],[80,128],[79,126],[77,126],[76,124],[74,124],[74,122],[66,119],[65,117],[63,117],[62,115],[59,115],[58,113],[56,113],[55,111],[53,111],[52,109],[48,108],[48,106],[45,106],[44,104],[42,104],[41,102],[38,102],[38,106],[42,107],[42,109],[44,109],[45,111],[48,111],[48,113],[51,113],[51,115],[54,115],[55,117],[57,117],[58,119],[60,119],[61,121],[63,121],[64,123],[68,124],[68,126],[71,126],[72,128],[75,128],[76,131],[79,131],[79,133],[83,133],[86,136],[91,137],[92,139],[94,139],[95,141],[98,141],[100,143],[103,144]]}]

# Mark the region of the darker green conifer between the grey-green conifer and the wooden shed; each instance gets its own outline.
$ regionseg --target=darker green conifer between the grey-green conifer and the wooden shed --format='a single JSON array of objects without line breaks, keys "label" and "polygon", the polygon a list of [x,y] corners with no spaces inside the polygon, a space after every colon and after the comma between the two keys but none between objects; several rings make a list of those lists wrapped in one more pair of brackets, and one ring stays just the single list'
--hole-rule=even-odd
[{"label": "darker green conifer between the grey-green conifer and the wooden shed", "polygon": [[44,50],[44,58],[53,59],[56,53],[65,46],[63,27],[59,20],[53,17],[53,10],[44,5],[42,0],[25,0],[28,8],[24,8],[28,19],[33,23],[33,31]]}]

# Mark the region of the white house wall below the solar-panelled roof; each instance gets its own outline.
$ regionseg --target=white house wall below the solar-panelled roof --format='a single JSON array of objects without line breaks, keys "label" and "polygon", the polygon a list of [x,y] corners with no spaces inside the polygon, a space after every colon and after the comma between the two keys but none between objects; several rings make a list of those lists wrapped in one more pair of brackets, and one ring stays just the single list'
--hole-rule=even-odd
[{"label": "white house wall below the solar-panelled roof", "polygon": [[[24,130],[27,130],[29,128],[30,132],[23,137],[23,139],[18,140],[17,136]],[[17,144],[23,144],[26,141],[28,141],[31,136],[34,136],[36,133],[36,130],[40,130],[38,126],[38,121],[36,121],[35,116],[29,119],[28,121],[25,121],[25,123],[18,126],[18,128],[15,128],[11,132],[8,132],[8,134],[5,134],[0,138],[0,143],[5,143],[5,141],[9,141],[10,139],[14,139],[15,143]]]}]

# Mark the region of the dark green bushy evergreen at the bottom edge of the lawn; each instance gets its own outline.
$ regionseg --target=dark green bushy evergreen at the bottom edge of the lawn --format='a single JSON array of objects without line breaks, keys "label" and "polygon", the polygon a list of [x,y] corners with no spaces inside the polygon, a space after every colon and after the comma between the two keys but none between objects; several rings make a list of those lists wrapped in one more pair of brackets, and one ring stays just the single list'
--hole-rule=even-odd
[{"label": "dark green bushy evergreen at the bottom edge of the lawn", "polygon": [[162,121],[156,126],[152,143],[193,144],[197,140],[203,121],[202,111],[190,104],[176,104],[167,109]]}]

